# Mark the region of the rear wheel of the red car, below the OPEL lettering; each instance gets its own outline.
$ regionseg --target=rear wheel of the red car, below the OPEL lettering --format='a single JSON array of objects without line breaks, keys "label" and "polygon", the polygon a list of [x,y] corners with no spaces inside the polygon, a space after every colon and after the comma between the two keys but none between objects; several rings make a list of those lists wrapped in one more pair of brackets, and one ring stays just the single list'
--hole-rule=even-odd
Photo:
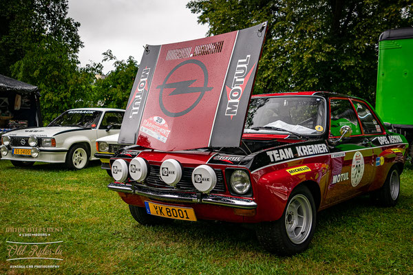
[{"label": "rear wheel of the red car, below the OPEL lettering", "polygon": [[395,206],[400,194],[400,175],[396,166],[393,166],[386,177],[383,186],[370,196],[379,206]]}]

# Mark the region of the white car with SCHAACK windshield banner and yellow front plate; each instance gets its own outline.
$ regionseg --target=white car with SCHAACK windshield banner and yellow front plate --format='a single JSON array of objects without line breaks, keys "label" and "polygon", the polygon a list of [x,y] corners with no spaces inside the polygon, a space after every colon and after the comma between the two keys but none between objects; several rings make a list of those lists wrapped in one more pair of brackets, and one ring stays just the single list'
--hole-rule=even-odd
[{"label": "white car with SCHAACK windshield banner and yellow front plate", "polygon": [[46,127],[9,131],[1,137],[1,159],[10,159],[14,166],[50,162],[85,168],[96,159],[96,140],[119,133],[124,113],[109,108],[70,109]]}]

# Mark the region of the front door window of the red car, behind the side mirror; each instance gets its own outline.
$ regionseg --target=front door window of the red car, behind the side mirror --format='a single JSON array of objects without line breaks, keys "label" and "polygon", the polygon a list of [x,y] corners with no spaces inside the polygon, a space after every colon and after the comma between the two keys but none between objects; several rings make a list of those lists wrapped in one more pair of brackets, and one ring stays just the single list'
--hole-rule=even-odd
[{"label": "front door window of the red car, behind the side mirror", "polygon": [[340,129],[345,125],[351,127],[352,135],[361,135],[359,121],[350,100],[330,100],[330,136],[341,136]]}]

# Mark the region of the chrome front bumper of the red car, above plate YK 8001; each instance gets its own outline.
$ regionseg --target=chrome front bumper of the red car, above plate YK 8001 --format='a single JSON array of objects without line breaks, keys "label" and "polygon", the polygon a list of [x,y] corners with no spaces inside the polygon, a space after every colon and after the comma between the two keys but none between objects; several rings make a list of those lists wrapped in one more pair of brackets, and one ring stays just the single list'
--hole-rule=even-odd
[{"label": "chrome front bumper of the red car, above plate YK 8001", "polygon": [[255,209],[257,203],[251,199],[240,199],[235,197],[226,197],[221,195],[176,193],[169,191],[160,191],[147,188],[145,186],[130,186],[125,184],[112,183],[107,186],[110,190],[116,192],[125,192],[129,194],[142,195],[151,199],[160,201],[183,202],[183,203],[209,203],[218,206],[230,206],[233,208]]}]

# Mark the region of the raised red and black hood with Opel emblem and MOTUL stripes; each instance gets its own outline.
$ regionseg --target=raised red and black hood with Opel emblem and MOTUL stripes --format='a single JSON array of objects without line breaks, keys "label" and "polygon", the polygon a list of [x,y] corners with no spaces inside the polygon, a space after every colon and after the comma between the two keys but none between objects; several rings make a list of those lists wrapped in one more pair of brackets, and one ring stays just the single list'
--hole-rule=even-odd
[{"label": "raised red and black hood with Opel emblem and MOTUL stripes", "polygon": [[148,45],[118,142],[161,151],[240,146],[265,34],[266,22]]}]

